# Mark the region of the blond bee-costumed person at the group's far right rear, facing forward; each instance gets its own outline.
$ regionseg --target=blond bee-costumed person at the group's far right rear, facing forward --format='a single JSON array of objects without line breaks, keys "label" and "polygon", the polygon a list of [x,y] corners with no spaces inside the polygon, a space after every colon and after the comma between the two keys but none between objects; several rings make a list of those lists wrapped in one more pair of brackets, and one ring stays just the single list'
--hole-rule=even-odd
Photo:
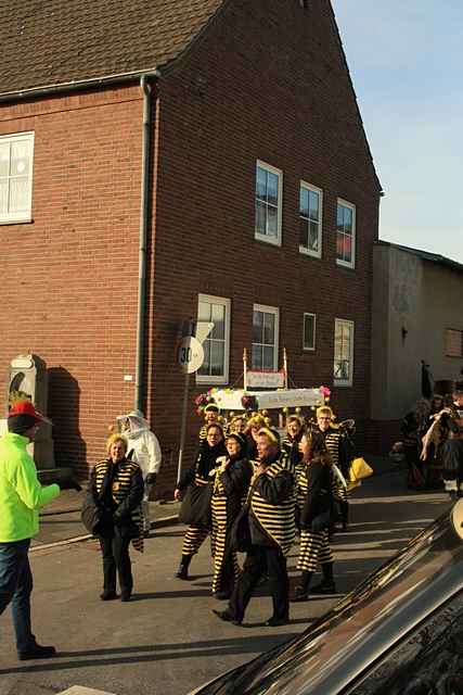
[{"label": "blond bee-costumed person at the group's far right rear, facing forward", "polygon": [[[346,451],[346,442],[343,432],[333,427],[333,410],[329,405],[321,405],[317,408],[317,426],[323,435],[324,443],[331,455],[332,463],[337,466],[346,480],[349,478],[349,464]],[[347,529],[349,520],[349,502],[347,498],[347,490],[342,481],[333,476],[333,493],[336,503],[339,506],[343,529]]]}]

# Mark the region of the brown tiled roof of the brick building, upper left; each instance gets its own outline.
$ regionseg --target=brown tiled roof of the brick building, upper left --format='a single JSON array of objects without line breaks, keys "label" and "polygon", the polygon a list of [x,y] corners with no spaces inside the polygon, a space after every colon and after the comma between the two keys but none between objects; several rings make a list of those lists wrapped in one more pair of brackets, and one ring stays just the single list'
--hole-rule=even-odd
[{"label": "brown tiled roof of the brick building, upper left", "polygon": [[1,0],[0,94],[155,71],[226,1]]}]

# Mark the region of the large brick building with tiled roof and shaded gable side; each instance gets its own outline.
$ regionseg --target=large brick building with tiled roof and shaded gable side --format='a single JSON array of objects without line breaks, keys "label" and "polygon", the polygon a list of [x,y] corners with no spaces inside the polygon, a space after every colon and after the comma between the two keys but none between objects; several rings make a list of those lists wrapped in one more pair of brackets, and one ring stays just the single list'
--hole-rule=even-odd
[{"label": "large brick building with tiled roof and shaded gable side", "polygon": [[192,402],[243,348],[276,367],[285,346],[298,387],[365,421],[381,186],[330,1],[5,0],[0,20],[0,388],[13,355],[46,361],[57,462],[85,470],[137,403],[172,488],[197,315],[216,328]]}]

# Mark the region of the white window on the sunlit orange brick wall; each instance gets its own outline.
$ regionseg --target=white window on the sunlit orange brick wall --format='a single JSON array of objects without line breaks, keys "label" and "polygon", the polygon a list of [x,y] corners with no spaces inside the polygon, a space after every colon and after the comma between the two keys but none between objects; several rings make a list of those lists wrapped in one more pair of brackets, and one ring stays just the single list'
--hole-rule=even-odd
[{"label": "white window on the sunlit orange brick wall", "polygon": [[0,223],[30,222],[34,132],[0,136]]}]

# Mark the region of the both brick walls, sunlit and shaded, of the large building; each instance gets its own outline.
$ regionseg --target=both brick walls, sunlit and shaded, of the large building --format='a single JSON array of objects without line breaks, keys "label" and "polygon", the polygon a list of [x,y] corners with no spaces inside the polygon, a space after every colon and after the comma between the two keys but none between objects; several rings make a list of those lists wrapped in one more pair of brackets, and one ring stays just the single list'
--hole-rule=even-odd
[{"label": "both brick walls, sunlit and shaded, of the large building", "polygon": [[[36,134],[34,224],[0,226],[0,389],[13,355],[39,354],[57,462],[82,470],[133,403],[124,375],[134,375],[141,115],[138,87],[0,106],[0,134]],[[198,292],[232,300],[231,382],[250,348],[253,303],[280,307],[298,386],[332,383],[334,317],[355,320],[355,386],[333,404],[340,418],[366,419],[378,190],[326,0],[306,12],[297,0],[228,3],[160,79],[155,117],[146,376],[149,416],[172,452],[163,494],[176,475],[179,326],[196,315]],[[282,248],[254,240],[257,159],[283,170]],[[324,191],[321,261],[298,252],[299,179]],[[356,270],[335,264],[337,195],[357,205]],[[314,354],[301,351],[304,312],[318,316]],[[192,416],[189,452],[198,426]]]}]

